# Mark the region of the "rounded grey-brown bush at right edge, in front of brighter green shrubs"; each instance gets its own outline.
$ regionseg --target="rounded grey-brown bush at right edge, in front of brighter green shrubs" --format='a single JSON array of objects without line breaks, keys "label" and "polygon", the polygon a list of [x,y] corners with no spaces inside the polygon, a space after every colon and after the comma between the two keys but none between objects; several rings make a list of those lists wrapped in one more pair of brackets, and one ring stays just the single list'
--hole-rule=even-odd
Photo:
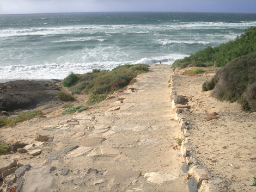
[{"label": "rounded grey-brown bush at right edge, in front of brighter green shrubs", "polygon": [[230,102],[238,101],[244,110],[256,111],[256,53],[231,61],[214,78],[217,84],[212,96]]}]

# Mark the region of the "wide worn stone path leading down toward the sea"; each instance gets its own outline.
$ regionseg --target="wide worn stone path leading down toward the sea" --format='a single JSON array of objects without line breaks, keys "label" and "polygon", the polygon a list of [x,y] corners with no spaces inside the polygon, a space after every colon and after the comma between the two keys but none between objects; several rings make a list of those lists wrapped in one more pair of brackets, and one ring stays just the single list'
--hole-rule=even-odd
[{"label": "wide worn stone path leading down toward the sea", "polygon": [[153,65],[129,90],[107,100],[110,107],[59,116],[48,126],[32,122],[34,130],[23,134],[53,139],[36,141],[31,151],[41,153],[29,162],[27,153],[20,154],[31,164],[20,191],[188,191],[184,159],[173,149],[180,131],[170,103],[171,74],[169,65]]}]

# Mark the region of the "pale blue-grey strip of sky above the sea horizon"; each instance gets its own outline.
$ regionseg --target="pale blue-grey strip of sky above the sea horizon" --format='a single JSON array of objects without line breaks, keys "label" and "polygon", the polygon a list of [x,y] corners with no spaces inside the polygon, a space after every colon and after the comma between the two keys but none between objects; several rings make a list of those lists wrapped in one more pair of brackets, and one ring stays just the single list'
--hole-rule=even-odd
[{"label": "pale blue-grey strip of sky above the sea horizon", "polygon": [[0,0],[0,14],[94,11],[256,13],[256,0]]}]

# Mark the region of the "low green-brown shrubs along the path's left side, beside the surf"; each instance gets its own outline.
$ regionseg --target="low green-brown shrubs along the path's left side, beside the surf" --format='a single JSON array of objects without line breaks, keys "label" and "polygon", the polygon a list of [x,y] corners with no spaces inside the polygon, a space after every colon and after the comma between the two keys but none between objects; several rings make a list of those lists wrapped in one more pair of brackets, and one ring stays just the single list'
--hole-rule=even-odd
[{"label": "low green-brown shrubs along the path's left side, beside the surf", "polygon": [[145,64],[118,66],[112,71],[94,69],[92,73],[83,75],[71,73],[63,82],[71,85],[70,90],[74,94],[90,94],[88,102],[93,104],[105,99],[111,92],[123,90],[125,86],[136,81],[134,78],[138,74],[148,70],[149,66]]}]

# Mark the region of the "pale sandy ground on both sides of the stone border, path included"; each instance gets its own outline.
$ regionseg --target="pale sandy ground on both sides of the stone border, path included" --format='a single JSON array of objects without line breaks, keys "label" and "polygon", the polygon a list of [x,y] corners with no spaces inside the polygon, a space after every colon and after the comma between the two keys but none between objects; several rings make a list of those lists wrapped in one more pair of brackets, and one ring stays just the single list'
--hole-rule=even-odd
[{"label": "pale sandy ground on both sides of the stone border, path included", "polygon": [[[249,184],[256,172],[256,115],[202,92],[215,70],[197,76],[175,71],[172,86],[191,106],[186,138],[209,179],[220,179],[220,191],[255,191]],[[2,154],[0,165],[13,159],[31,165],[20,190],[26,192],[188,191],[187,174],[181,171],[184,158],[174,147],[180,128],[170,103],[172,73],[168,65],[152,65],[130,89],[82,113],[60,115],[63,104],[39,107],[45,118],[1,128],[0,137],[8,144],[34,144],[28,152],[39,149],[40,154]],[[88,99],[76,97],[75,105]],[[219,118],[206,121],[214,112]],[[36,133],[53,139],[36,143]],[[6,182],[0,184],[5,191]]]}]

